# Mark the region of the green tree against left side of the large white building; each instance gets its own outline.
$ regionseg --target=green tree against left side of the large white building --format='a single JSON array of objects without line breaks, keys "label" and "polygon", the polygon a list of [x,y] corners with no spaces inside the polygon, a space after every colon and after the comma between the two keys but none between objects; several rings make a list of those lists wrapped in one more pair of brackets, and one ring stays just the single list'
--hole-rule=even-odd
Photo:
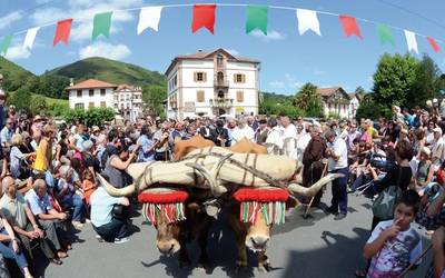
[{"label": "green tree against left side of the large white building", "polygon": [[165,116],[164,101],[167,99],[167,89],[164,86],[145,86],[142,100],[146,110],[151,116]]}]

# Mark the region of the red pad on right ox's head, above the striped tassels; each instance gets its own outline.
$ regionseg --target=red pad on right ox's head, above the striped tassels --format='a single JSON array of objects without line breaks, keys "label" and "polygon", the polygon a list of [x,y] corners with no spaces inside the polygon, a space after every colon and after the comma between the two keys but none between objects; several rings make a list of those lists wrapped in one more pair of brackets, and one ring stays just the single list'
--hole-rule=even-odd
[{"label": "red pad on right ox's head, above the striped tassels", "polygon": [[286,201],[289,198],[289,192],[280,188],[241,187],[234,193],[234,198],[239,202],[275,202]]}]

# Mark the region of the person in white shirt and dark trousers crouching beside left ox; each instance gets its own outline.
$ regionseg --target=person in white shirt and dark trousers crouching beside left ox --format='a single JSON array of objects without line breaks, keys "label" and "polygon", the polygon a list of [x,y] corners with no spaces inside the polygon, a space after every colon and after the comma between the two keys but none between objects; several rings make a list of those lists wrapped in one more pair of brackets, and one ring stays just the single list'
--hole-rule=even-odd
[{"label": "person in white shirt and dark trousers crouching beside left ox", "polygon": [[123,244],[129,240],[127,219],[119,219],[112,216],[112,209],[116,205],[129,207],[127,197],[111,197],[103,187],[99,187],[91,195],[91,224],[99,239],[108,242]]}]

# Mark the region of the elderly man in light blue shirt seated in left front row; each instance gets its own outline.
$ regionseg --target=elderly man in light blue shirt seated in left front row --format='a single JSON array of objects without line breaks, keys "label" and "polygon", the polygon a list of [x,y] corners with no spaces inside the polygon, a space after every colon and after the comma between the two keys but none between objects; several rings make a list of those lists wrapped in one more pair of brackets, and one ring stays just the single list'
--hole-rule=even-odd
[{"label": "elderly man in light blue shirt seated in left front row", "polygon": [[[32,214],[37,216],[39,225],[43,228],[52,245],[51,248],[57,251],[57,257],[67,258],[68,254],[63,250],[60,239],[66,237],[61,221],[66,220],[68,216],[52,207],[44,180],[37,179],[33,188],[26,193],[24,199]],[[67,249],[70,249],[70,245],[67,245]]]}]

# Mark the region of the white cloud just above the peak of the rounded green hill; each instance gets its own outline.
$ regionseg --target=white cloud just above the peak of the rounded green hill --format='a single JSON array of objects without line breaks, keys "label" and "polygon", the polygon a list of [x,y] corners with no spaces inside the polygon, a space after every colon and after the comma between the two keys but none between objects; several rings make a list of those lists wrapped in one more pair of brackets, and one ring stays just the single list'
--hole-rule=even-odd
[{"label": "white cloud just above the peak of the rounded green hill", "polygon": [[103,57],[112,60],[121,60],[131,54],[131,50],[126,44],[111,44],[97,41],[79,50],[80,59],[89,57]]}]

